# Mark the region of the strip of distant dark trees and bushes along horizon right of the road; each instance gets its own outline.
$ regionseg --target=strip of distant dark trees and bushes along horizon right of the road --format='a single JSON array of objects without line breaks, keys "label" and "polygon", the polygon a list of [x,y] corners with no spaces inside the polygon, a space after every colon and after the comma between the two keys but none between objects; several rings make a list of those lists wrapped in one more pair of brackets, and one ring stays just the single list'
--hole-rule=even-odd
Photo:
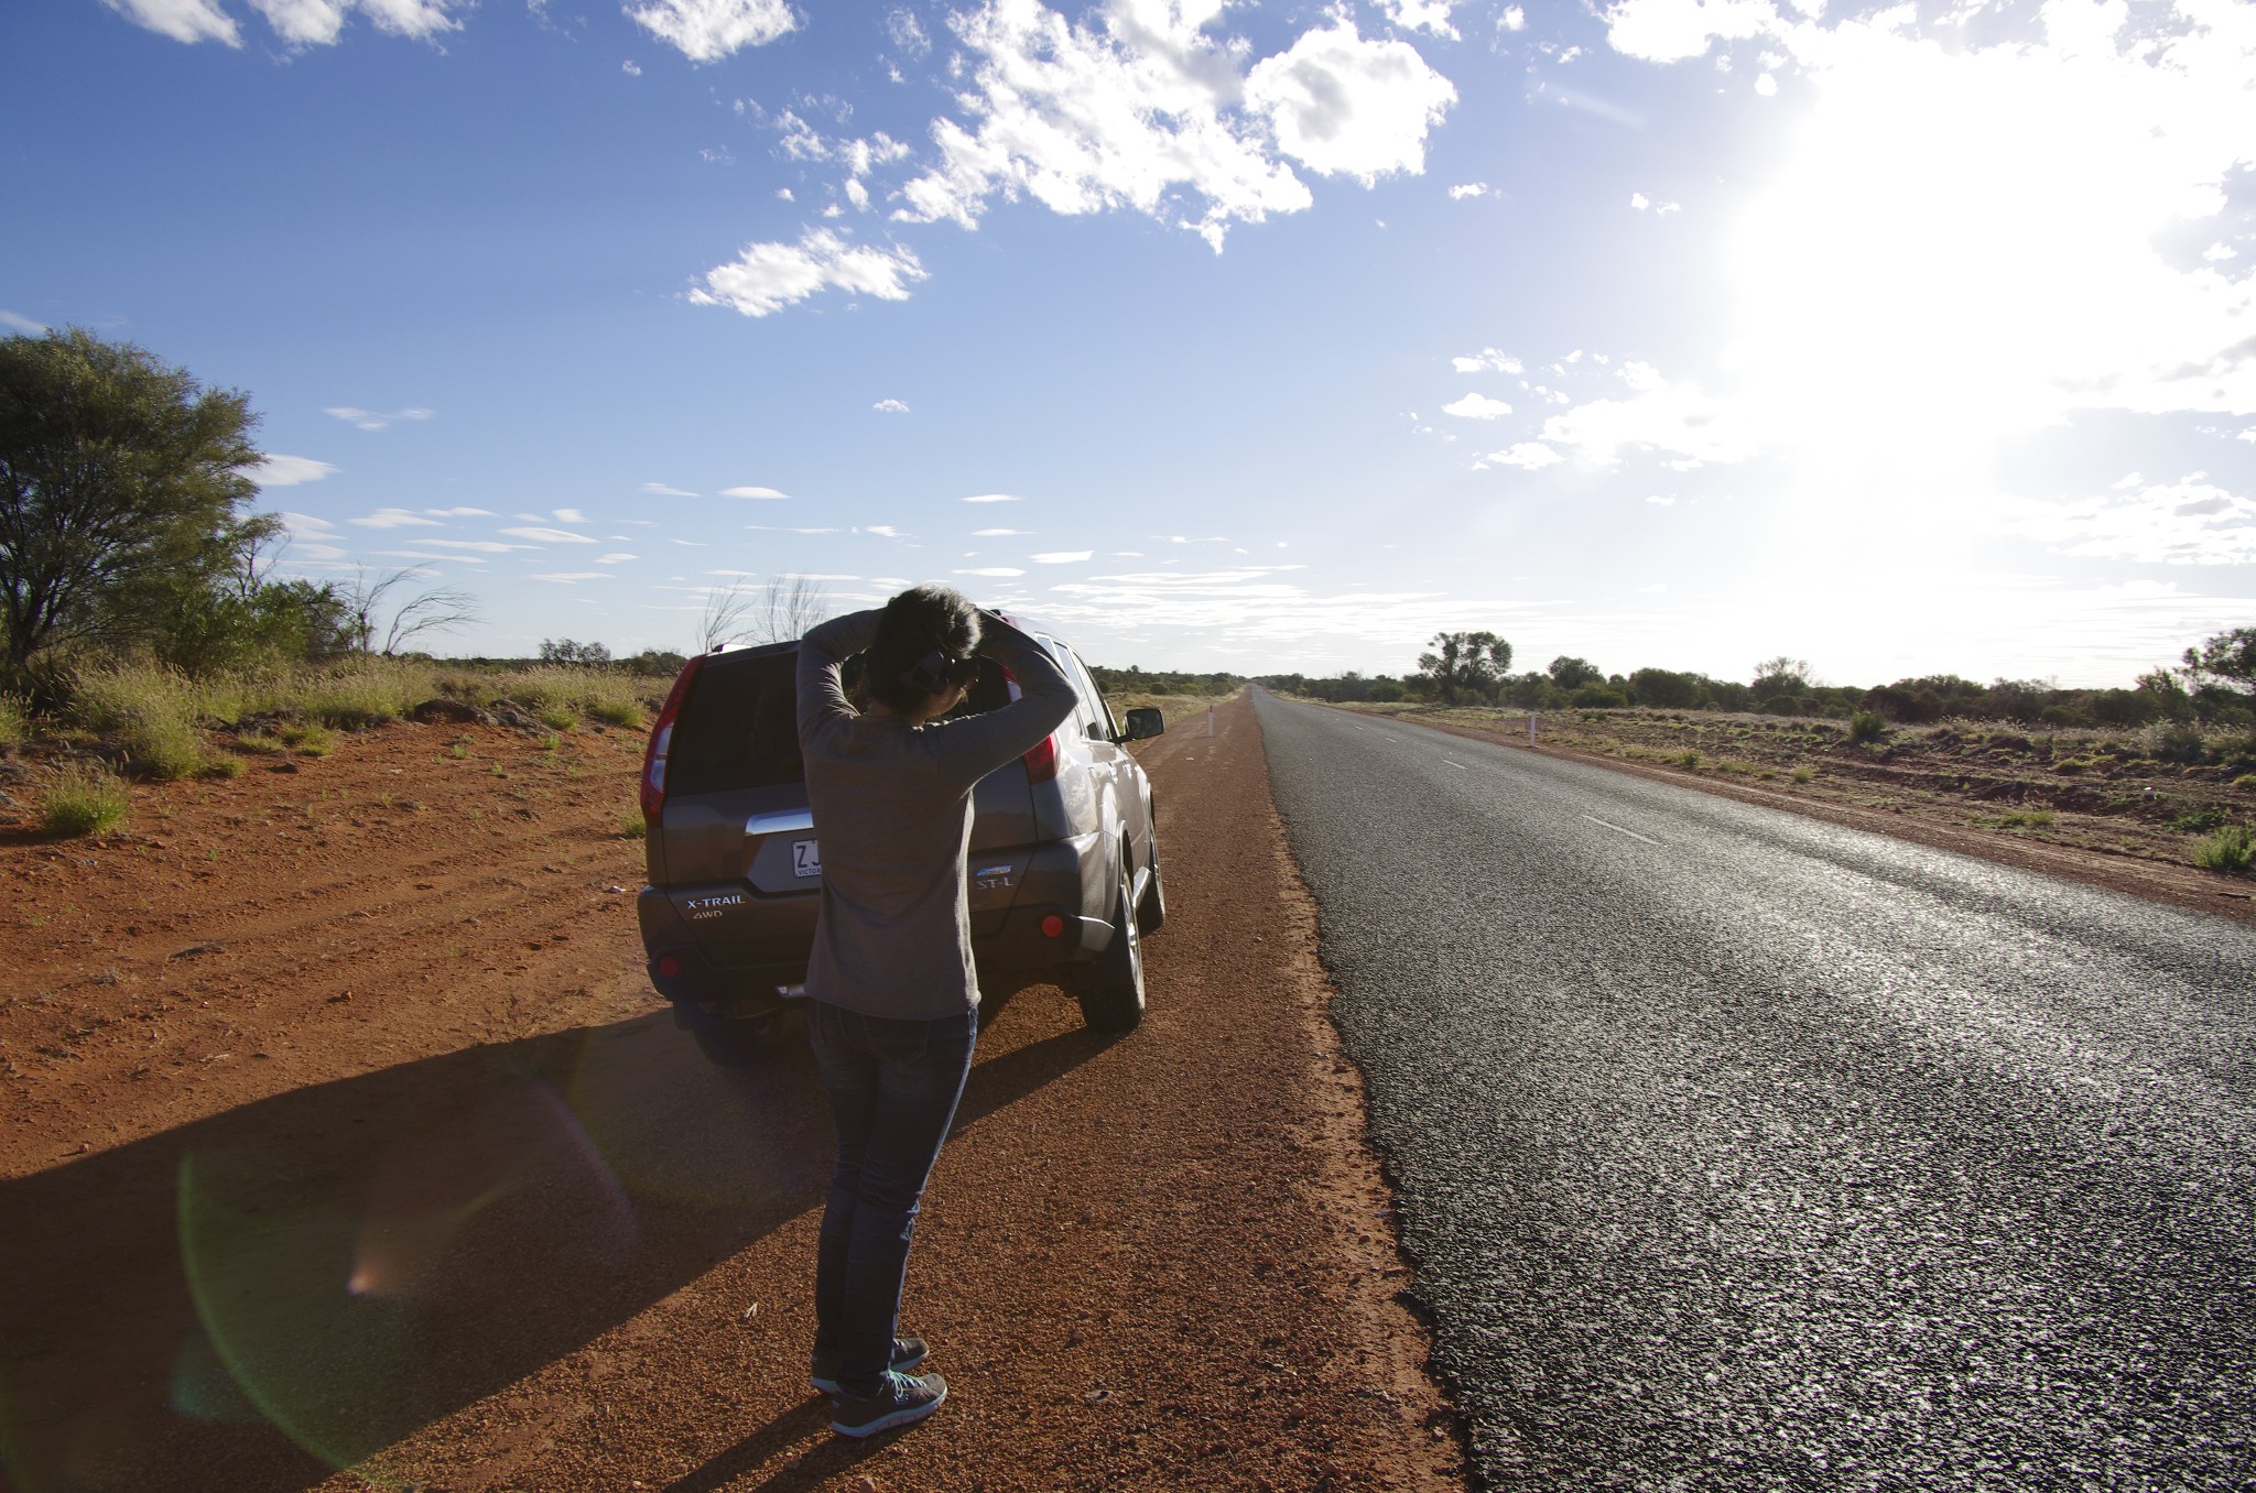
[{"label": "strip of distant dark trees and bushes along horizon right of the road", "polygon": [[1543,670],[1512,668],[1512,645],[1496,634],[1442,634],[1419,670],[1333,677],[1266,674],[1257,683],[1347,704],[1484,704],[1523,710],[1753,710],[1852,722],[1859,740],[1888,724],[1994,719],[2030,726],[2256,726],[2256,627],[2222,631],[2188,647],[2175,668],[2141,674],[2132,688],[2064,690],[2035,679],[1976,683],[1956,674],[1922,674],[1882,686],[1818,683],[1809,663],[1778,656],[1751,679],[1640,668],[1609,674],[1588,659],[1561,654]]}]

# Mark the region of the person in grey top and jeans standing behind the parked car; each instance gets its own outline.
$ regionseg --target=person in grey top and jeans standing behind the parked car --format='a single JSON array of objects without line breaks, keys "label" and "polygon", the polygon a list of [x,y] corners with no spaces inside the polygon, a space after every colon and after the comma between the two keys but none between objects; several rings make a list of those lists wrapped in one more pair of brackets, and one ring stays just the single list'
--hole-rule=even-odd
[{"label": "person in grey top and jeans standing behind the parked car", "polygon": [[[864,654],[862,704],[844,665]],[[995,659],[1020,697],[941,719]],[[963,859],[972,787],[1056,731],[1074,686],[1040,643],[948,586],[832,618],[799,641],[799,753],[823,857],[808,1031],[839,1159],[814,1252],[810,1382],[830,1428],[871,1437],[948,1398],[900,1335],[909,1238],[979,1037]]]}]

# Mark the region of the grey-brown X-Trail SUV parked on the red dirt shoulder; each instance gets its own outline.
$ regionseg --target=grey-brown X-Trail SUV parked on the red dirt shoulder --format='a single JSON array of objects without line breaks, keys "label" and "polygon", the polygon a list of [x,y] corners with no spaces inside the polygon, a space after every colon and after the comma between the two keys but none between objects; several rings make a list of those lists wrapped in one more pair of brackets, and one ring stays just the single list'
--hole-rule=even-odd
[{"label": "grey-brown X-Trail SUV parked on the red dirt shoulder", "polygon": [[[1112,715],[1049,629],[1011,618],[1058,659],[1074,713],[972,789],[966,866],[972,954],[990,1001],[1058,983],[1099,1031],[1144,1019],[1142,938],[1166,920],[1151,780],[1126,751],[1157,710]],[[756,1055],[805,999],[821,841],[799,762],[796,643],[690,659],[650,728],[636,902],[650,983],[715,1062]],[[848,661],[846,686],[855,683]],[[1017,699],[993,659],[957,715]]]}]

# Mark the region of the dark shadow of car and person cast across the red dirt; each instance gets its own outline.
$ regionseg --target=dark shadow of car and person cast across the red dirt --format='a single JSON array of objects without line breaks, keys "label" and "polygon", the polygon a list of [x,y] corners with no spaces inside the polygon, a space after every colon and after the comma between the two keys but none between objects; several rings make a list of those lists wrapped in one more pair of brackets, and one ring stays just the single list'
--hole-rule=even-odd
[{"label": "dark shadow of car and person cast across the red dirt", "polygon": [[[1099,1049],[1072,1031],[979,1062],[957,1123]],[[715,1069],[656,1015],[0,1182],[0,1488],[320,1482],[819,1207],[830,1152],[803,1049]],[[817,1428],[794,1416],[826,1412],[720,1461]]]}]

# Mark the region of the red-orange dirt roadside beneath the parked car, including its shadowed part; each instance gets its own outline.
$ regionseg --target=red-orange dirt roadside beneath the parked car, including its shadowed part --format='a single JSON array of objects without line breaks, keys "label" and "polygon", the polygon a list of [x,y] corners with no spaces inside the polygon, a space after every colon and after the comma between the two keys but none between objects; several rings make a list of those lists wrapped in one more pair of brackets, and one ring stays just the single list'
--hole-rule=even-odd
[{"label": "red-orange dirt roadside beneath the parked car, including its shadowed part", "polygon": [[1031,988],[981,1037],[909,1281],[952,1403],[875,1443],[803,1380],[812,1069],[704,1067],[611,891],[634,733],[390,726],[0,841],[0,1486],[1462,1488],[1252,710],[1216,724],[1144,758],[1144,1028]]}]

